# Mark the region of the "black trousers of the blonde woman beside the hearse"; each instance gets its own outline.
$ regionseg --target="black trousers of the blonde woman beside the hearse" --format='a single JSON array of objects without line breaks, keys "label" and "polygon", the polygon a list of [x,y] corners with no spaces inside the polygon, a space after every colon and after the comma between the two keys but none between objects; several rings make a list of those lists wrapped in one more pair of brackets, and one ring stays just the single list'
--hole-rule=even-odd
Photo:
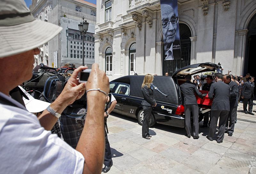
[{"label": "black trousers of the blonde woman beside the hearse", "polygon": [[150,120],[150,115],[152,111],[152,106],[142,106],[143,107],[143,122],[142,122],[142,137],[146,138],[149,133],[148,133],[148,128],[149,128],[149,120]]}]

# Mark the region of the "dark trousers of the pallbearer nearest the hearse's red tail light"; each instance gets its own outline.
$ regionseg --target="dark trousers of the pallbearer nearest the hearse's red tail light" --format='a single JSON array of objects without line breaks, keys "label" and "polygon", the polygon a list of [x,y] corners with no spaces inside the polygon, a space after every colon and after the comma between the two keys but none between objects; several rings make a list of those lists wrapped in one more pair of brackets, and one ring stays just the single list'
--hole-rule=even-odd
[{"label": "dark trousers of the pallbearer nearest the hearse's red tail light", "polygon": [[188,136],[191,136],[191,124],[190,124],[190,117],[193,113],[193,125],[194,125],[194,136],[198,136],[198,129],[199,129],[199,123],[198,123],[198,106],[197,105],[185,105],[185,123],[186,123],[186,131]]}]

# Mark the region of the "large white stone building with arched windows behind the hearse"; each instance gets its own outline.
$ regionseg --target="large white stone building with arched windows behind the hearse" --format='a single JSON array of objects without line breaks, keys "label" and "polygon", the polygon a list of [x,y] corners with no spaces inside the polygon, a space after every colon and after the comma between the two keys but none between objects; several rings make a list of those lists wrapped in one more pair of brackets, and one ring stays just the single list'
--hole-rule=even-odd
[{"label": "large white stone building with arched windows behind the hearse", "polygon": [[255,0],[178,0],[178,10],[182,60],[163,60],[159,0],[97,0],[95,62],[110,80],[202,62],[220,62],[223,73],[255,73]]}]

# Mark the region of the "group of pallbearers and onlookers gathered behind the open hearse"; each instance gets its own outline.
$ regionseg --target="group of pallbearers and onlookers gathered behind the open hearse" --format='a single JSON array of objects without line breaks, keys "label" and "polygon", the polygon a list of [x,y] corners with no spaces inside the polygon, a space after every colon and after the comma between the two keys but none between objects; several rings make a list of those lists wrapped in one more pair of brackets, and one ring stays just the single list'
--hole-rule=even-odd
[{"label": "group of pallbearers and onlookers gathered behind the open hearse", "polygon": [[[213,78],[214,76],[214,78]],[[204,122],[201,128],[208,127],[209,134],[206,138],[210,141],[213,140],[215,129],[219,120],[219,131],[217,134],[217,142],[221,143],[224,138],[224,133],[228,136],[232,136],[234,132],[235,123],[237,121],[237,106],[240,98],[243,99],[243,109],[245,114],[252,113],[252,102],[254,99],[254,77],[250,76],[249,73],[243,76],[233,76],[229,74],[216,73],[215,75],[205,75],[199,76],[194,75],[194,79],[191,79],[190,75],[185,76],[186,82],[180,85],[181,92],[184,98],[185,115],[186,118],[186,130],[187,136],[190,138],[190,112],[193,113],[194,118],[194,136],[197,139],[198,124],[195,121],[198,117],[198,108],[195,94],[202,97],[199,90],[209,91],[208,97],[213,98],[213,103],[211,106],[211,111],[204,113]],[[196,87],[193,87],[193,85]],[[189,91],[188,89],[191,89]],[[189,99],[189,97],[190,99]],[[188,101],[194,100],[194,102],[189,103]],[[249,103],[249,108],[247,110],[247,105]],[[192,104],[192,106],[190,106]],[[186,106],[189,105],[189,106]],[[196,111],[195,111],[196,110]],[[189,116],[187,116],[189,115]],[[196,118],[195,118],[196,117]],[[210,117],[210,120],[209,120]],[[199,138],[199,137],[198,137]]]}]

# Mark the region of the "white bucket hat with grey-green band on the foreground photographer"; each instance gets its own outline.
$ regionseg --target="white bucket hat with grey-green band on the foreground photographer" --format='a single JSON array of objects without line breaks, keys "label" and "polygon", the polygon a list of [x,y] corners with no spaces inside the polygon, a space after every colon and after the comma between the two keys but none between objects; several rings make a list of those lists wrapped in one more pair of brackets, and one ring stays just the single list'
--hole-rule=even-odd
[{"label": "white bucket hat with grey-green band on the foreground photographer", "polygon": [[36,20],[24,0],[0,0],[0,58],[32,50],[62,30]]}]

